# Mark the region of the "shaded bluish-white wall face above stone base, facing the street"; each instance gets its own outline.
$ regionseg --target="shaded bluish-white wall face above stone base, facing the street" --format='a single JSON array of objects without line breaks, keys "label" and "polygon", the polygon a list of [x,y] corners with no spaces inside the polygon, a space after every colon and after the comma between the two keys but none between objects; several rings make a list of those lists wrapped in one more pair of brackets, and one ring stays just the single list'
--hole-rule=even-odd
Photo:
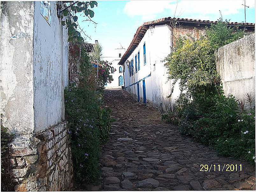
[{"label": "shaded bluish-white wall face above stone base, facing the street", "polygon": [[[57,17],[56,2],[51,2],[51,26],[40,14],[40,2],[35,2],[34,14],[34,115],[35,132],[44,131],[64,120],[64,87],[67,82],[67,31]],[[65,55],[65,54],[66,55]],[[66,70],[66,71],[64,71]]]}]

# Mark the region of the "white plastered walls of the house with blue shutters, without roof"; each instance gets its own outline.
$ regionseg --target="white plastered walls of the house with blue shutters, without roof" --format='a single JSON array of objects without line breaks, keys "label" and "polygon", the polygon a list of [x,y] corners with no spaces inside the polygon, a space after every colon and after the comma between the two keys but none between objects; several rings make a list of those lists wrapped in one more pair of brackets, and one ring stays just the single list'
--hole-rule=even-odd
[{"label": "white plastered walls of the house with blue shutters, without roof", "polygon": [[[164,59],[171,53],[176,39],[179,36],[191,34],[198,37],[201,29],[175,28],[168,25],[156,25],[150,27],[138,47],[132,52],[128,60],[131,61],[140,52],[140,70],[134,76],[129,76],[129,70],[125,65],[125,86],[134,98],[138,99],[137,84],[139,84],[140,103],[143,103],[142,80],[146,84],[146,100],[148,106],[157,107],[160,111],[167,111],[175,105],[175,100],[180,95],[179,84],[174,85],[174,92],[170,98],[173,80],[168,80],[167,68]],[[146,65],[143,60],[143,44],[146,44]],[[135,67],[135,63],[134,63]],[[130,83],[129,83],[130,82]],[[135,83],[135,84],[134,84]],[[129,86],[130,85],[130,86]],[[135,87],[135,90],[134,90]]]}]

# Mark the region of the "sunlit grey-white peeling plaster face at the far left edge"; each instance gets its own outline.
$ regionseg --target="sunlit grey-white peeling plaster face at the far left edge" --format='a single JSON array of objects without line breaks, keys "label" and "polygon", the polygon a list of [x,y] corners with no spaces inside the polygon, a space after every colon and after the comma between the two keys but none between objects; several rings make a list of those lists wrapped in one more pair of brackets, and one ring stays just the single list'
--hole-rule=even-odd
[{"label": "sunlit grey-white peeling plaster face at the far left edge", "polygon": [[4,115],[3,123],[12,133],[32,134],[34,127],[32,68],[34,3],[2,3],[1,114]]}]

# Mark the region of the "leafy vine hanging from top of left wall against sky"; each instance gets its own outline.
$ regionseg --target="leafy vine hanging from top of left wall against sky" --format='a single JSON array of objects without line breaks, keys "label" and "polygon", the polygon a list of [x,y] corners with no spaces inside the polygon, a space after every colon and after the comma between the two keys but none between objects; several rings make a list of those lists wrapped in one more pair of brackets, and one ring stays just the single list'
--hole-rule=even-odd
[{"label": "leafy vine hanging from top of left wall against sky", "polygon": [[[94,11],[92,8],[97,6],[98,3],[96,1],[75,1],[73,3],[63,3],[63,5],[64,9],[60,4],[57,4],[57,8],[59,10],[58,17],[62,20],[61,24],[66,26],[66,29],[68,29],[68,42],[82,44],[83,37],[81,36],[81,32],[83,32],[83,30],[79,27],[77,15],[80,14],[80,16],[86,17],[87,19],[84,21],[95,23],[91,19],[94,17]],[[78,28],[80,28],[80,31],[78,31]]]}]

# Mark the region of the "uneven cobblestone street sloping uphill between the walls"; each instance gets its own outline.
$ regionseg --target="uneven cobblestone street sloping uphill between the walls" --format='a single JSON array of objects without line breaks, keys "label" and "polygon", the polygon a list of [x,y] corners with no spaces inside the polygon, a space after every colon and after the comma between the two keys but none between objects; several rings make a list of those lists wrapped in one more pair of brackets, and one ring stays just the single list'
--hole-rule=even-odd
[{"label": "uneven cobblestone street sloping uphill between the walls", "polygon": [[[105,90],[105,100],[117,121],[103,146],[100,190],[255,190],[255,167],[181,136],[124,90]],[[200,171],[201,164],[221,170]],[[224,164],[242,164],[242,171],[221,172]]]}]

